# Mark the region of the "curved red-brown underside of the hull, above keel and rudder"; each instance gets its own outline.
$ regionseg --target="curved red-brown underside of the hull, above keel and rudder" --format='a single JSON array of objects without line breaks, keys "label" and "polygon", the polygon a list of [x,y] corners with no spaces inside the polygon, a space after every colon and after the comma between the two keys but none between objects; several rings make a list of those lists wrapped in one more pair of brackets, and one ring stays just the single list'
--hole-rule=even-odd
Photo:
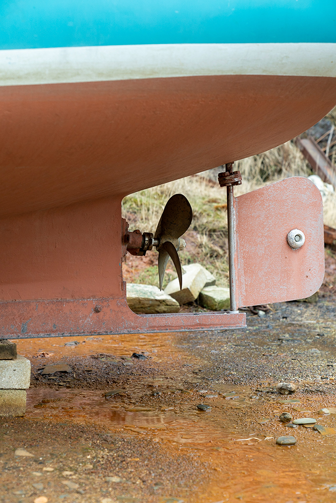
[{"label": "curved red-brown underside of the hull, above keel and rudder", "polygon": [[197,75],[0,87],[0,215],[121,199],[265,151],[323,117],[335,84]]}]

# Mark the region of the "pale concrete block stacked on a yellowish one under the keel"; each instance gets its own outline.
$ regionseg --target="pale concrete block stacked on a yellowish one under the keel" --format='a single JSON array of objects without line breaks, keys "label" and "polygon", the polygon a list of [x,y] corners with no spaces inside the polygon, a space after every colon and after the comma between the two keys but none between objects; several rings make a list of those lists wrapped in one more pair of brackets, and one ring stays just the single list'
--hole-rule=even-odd
[{"label": "pale concrete block stacked on a yellowish one under the keel", "polygon": [[16,360],[0,360],[0,389],[27,389],[30,386],[30,361],[18,355]]}]

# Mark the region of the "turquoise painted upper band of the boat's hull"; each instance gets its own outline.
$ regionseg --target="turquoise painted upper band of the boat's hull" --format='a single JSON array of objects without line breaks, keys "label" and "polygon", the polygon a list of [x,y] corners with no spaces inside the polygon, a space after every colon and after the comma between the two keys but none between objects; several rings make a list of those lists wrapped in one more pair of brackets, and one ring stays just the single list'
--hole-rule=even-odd
[{"label": "turquoise painted upper band of the boat's hull", "polygon": [[2,0],[0,49],[336,42],[336,0]]}]

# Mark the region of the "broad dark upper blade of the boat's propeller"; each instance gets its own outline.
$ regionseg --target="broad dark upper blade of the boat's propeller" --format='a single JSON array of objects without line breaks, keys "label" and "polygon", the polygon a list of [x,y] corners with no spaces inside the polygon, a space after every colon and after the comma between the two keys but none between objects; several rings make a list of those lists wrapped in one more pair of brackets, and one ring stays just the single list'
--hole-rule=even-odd
[{"label": "broad dark upper blade of the boat's propeller", "polygon": [[183,194],[175,194],[168,201],[162,212],[155,237],[178,239],[188,230],[192,221],[192,209]]}]

